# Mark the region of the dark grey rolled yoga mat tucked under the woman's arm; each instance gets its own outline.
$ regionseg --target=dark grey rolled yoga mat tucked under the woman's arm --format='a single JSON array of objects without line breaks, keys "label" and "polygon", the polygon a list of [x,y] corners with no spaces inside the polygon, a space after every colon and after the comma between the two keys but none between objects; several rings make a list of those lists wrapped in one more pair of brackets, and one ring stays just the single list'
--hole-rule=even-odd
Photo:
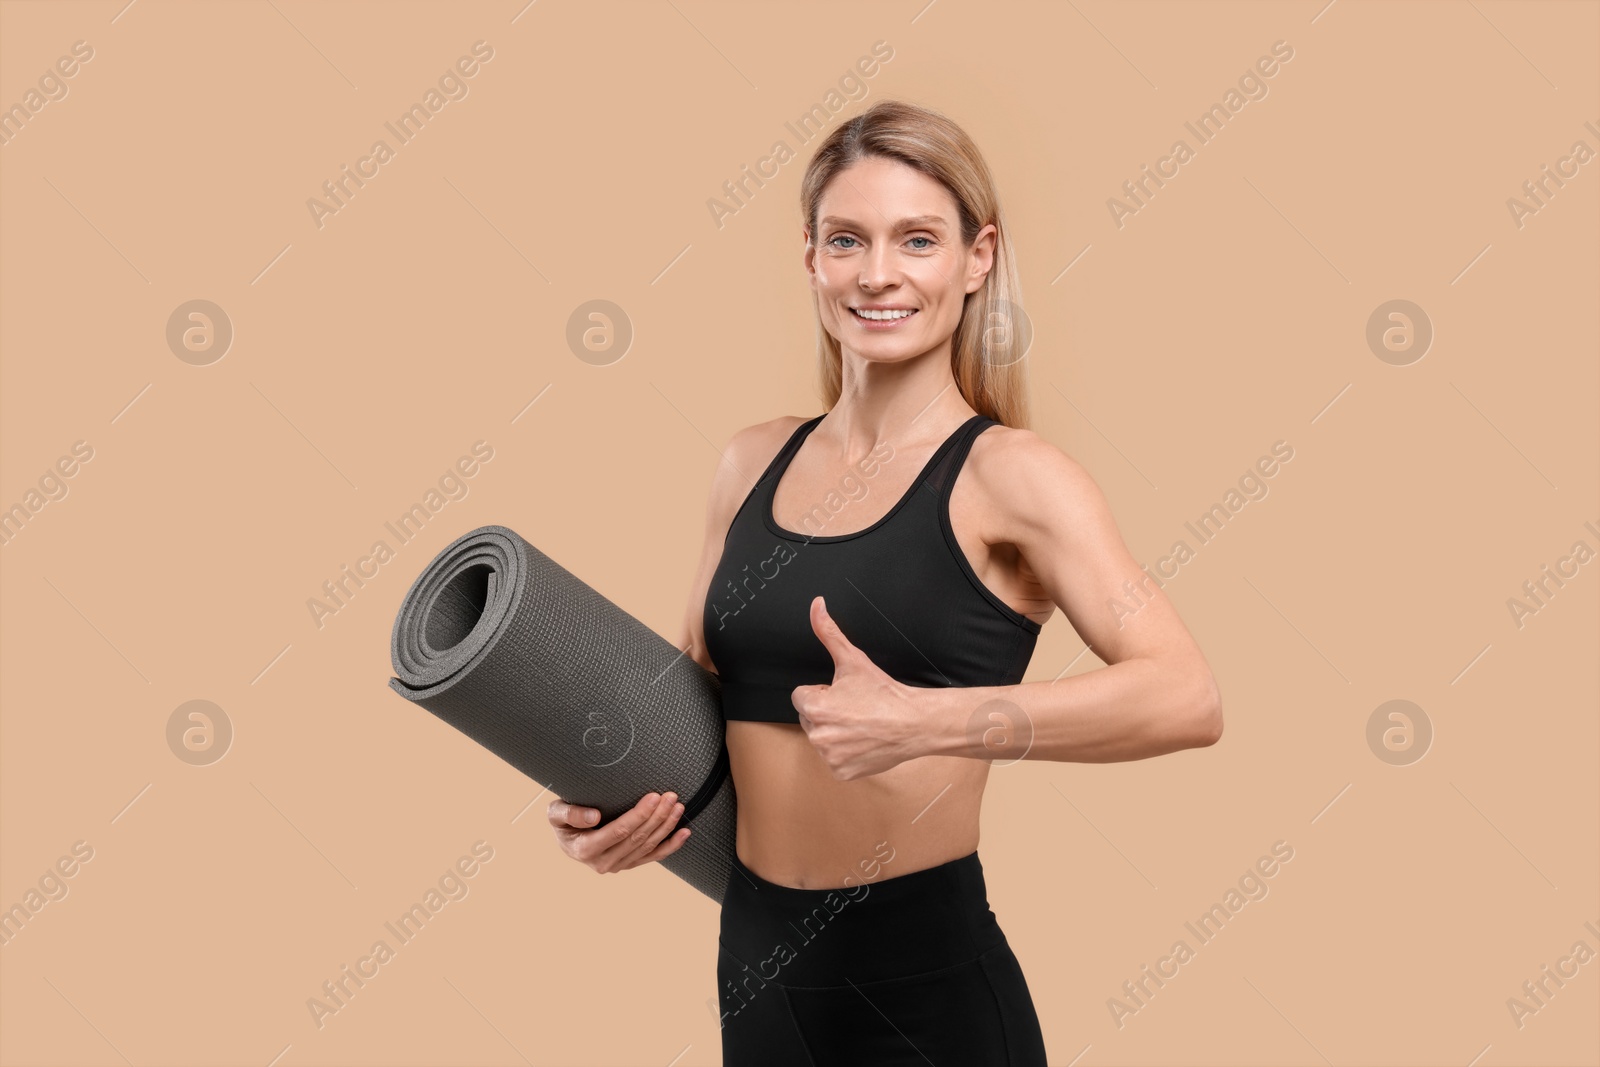
[{"label": "dark grey rolled yoga mat tucked under the woman's arm", "polygon": [[506,526],[434,557],[389,646],[389,688],[602,825],[675,790],[693,832],[661,865],[722,902],[736,803],[717,675]]}]

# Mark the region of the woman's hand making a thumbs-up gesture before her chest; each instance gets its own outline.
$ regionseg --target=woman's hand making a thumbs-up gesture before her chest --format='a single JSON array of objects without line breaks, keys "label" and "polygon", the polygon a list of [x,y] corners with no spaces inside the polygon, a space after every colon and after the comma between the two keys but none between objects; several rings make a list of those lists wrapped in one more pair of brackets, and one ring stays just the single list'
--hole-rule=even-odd
[{"label": "woman's hand making a thumbs-up gesture before her chest", "polygon": [[867,777],[920,755],[914,689],[851,645],[821,597],[811,600],[811,630],[834,657],[834,681],[795,686],[790,699],[834,777]]}]

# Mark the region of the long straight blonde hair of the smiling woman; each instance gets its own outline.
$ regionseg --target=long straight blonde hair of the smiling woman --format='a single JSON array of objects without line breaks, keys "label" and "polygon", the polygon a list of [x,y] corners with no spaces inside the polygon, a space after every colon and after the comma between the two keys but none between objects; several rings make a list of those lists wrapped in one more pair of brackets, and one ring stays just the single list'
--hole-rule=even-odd
[{"label": "long straight blonde hair of the smiling woman", "polygon": [[[806,165],[800,182],[800,214],[816,235],[816,211],[822,190],[840,171],[864,158],[906,163],[944,186],[955,198],[962,243],[978,230],[995,227],[995,258],[976,293],[968,293],[962,318],[950,339],[950,374],[962,397],[979,414],[1013,427],[1027,427],[1027,386],[1019,328],[1026,328],[1022,290],[1011,253],[1011,238],[1000,210],[994,176],[966,131],[936,110],[904,101],[878,101],[827,136]],[[838,403],[842,362],[838,341],[822,328],[816,291],[816,355],[822,403]]]}]

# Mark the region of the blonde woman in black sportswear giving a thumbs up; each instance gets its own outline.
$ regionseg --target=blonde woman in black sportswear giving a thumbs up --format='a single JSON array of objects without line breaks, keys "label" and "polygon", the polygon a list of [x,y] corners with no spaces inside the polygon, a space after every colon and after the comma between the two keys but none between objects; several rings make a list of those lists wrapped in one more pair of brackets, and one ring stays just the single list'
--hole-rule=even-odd
[{"label": "blonde woman in black sportswear giving a thumbs up", "polygon": [[[728,442],[680,641],[720,675],[739,797],[723,1061],[1043,1064],[978,861],[990,761],[1213,744],[1216,683],[1090,475],[1022,429],[994,328],[1016,267],[966,134],[880,102],[818,149],[800,206],[827,411]],[[1021,683],[1056,606],[1109,665]],[[549,817],[614,872],[682,846],[682,808]]]}]

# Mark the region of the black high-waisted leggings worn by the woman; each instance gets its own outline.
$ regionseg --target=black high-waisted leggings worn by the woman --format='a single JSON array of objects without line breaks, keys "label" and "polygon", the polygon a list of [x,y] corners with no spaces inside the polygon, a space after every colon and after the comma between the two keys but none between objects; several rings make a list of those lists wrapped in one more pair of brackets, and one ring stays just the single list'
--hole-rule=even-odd
[{"label": "black high-waisted leggings worn by the woman", "polygon": [[776,885],[734,856],[720,934],[725,1067],[1045,1067],[976,851],[842,889]]}]

